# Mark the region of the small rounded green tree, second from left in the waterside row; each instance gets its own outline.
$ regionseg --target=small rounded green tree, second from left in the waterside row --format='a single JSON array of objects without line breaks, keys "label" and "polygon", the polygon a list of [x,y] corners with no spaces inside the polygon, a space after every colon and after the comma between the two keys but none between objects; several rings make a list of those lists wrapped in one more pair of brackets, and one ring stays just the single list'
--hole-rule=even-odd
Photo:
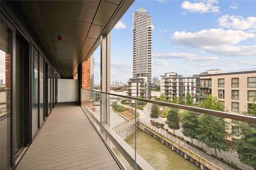
[{"label": "small rounded green tree, second from left in the waterside row", "polygon": [[166,118],[166,124],[168,125],[169,128],[174,130],[175,134],[175,130],[180,129],[179,109],[171,108]]}]

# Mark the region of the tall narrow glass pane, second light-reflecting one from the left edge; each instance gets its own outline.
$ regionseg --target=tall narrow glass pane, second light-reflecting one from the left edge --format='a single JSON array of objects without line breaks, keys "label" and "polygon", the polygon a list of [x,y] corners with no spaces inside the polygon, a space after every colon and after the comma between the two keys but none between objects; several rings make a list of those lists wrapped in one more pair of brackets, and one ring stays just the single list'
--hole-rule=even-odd
[{"label": "tall narrow glass pane, second light-reflecting one from the left edge", "polygon": [[32,56],[32,136],[35,135],[38,130],[38,83],[39,83],[39,65],[38,65],[39,52],[33,46],[33,56]]}]

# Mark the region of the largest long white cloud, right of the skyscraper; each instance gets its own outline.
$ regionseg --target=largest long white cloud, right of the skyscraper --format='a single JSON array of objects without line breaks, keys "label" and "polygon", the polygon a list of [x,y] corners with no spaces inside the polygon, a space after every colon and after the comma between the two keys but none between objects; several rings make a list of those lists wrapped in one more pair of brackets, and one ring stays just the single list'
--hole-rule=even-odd
[{"label": "largest long white cloud, right of the skyscraper", "polygon": [[256,45],[239,46],[236,44],[254,37],[253,33],[218,28],[203,29],[199,32],[178,31],[171,36],[171,40],[177,44],[201,48],[210,53],[228,56],[251,56],[256,55]]}]

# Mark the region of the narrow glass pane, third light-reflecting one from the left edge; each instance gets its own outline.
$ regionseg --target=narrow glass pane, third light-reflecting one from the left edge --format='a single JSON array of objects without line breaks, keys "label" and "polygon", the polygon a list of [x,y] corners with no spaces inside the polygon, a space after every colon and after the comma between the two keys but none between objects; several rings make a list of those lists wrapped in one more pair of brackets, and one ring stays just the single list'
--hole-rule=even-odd
[{"label": "narrow glass pane, third light-reflecting one from the left edge", "polygon": [[44,121],[44,57],[40,55],[40,75],[39,75],[39,117],[40,126],[42,126]]}]

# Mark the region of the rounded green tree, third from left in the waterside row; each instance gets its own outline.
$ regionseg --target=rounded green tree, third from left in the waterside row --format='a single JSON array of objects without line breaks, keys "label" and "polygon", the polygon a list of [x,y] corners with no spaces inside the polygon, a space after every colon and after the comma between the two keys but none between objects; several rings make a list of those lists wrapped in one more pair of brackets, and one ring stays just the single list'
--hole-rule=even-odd
[{"label": "rounded green tree, third from left in the waterside row", "polygon": [[182,133],[185,135],[185,137],[191,138],[191,143],[193,144],[193,139],[196,139],[198,135],[199,113],[185,111],[180,119]]}]

